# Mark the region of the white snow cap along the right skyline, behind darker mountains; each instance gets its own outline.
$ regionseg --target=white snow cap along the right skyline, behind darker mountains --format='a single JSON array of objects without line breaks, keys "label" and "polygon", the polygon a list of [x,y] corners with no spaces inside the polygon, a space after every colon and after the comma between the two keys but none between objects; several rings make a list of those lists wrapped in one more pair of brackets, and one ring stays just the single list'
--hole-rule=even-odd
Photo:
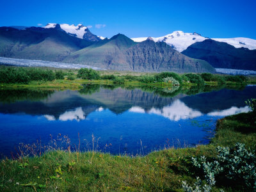
[{"label": "white snow cap along the right skyline, behind darker mountains", "polygon": [[[161,37],[152,37],[155,42],[166,42],[166,44],[172,46],[179,52],[186,50],[189,45],[195,44],[195,42],[202,42],[207,37],[201,36],[198,33],[184,33],[183,31],[173,31],[165,36]],[[147,37],[138,37],[132,38],[134,42],[143,42],[147,40]],[[227,44],[233,45],[236,48],[245,47],[248,49],[256,49],[256,40],[251,38],[212,38],[212,40],[216,40],[219,42],[226,42]]]}]

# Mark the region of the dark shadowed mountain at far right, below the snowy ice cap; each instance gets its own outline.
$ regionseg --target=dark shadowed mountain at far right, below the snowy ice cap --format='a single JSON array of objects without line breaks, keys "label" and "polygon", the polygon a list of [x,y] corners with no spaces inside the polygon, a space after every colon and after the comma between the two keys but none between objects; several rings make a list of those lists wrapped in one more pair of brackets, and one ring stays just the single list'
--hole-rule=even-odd
[{"label": "dark shadowed mountain at far right, below the snowy ice cap", "polygon": [[236,48],[211,39],[190,45],[182,54],[208,61],[215,68],[256,70],[256,50]]}]

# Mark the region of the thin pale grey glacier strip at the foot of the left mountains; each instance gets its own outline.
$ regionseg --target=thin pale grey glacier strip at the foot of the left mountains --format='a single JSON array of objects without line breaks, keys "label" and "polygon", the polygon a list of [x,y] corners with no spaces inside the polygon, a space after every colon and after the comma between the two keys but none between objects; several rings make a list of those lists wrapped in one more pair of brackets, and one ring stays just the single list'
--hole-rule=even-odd
[{"label": "thin pale grey glacier strip at the foot of the left mountains", "polygon": [[0,57],[0,65],[14,65],[14,66],[23,66],[23,67],[92,68],[94,70],[105,70],[104,68],[92,67],[89,65],[59,63],[59,62],[40,61],[40,60],[22,60],[22,59],[2,58],[2,57]]}]

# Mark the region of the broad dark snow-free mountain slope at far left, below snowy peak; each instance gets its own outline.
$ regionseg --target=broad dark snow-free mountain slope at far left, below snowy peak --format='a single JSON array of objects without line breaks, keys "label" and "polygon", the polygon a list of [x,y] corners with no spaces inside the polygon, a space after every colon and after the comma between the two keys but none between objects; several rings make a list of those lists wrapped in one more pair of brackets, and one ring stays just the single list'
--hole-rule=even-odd
[{"label": "broad dark snow-free mountain slope at far left, below snowy peak", "polygon": [[8,58],[61,61],[91,44],[56,28],[0,28],[0,56]]}]

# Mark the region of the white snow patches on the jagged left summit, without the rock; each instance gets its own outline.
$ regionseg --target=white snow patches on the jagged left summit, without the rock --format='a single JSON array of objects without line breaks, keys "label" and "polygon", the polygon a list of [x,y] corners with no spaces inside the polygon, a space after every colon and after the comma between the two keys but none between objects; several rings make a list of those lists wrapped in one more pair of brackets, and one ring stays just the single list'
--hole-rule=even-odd
[{"label": "white snow patches on the jagged left summit, without the rock", "polygon": [[[55,28],[56,23],[49,23],[44,28]],[[83,24],[78,24],[75,26],[74,24],[60,24],[60,28],[66,31],[69,35],[76,36],[77,38],[83,38],[84,34],[87,33],[87,27],[83,26]]]}]

